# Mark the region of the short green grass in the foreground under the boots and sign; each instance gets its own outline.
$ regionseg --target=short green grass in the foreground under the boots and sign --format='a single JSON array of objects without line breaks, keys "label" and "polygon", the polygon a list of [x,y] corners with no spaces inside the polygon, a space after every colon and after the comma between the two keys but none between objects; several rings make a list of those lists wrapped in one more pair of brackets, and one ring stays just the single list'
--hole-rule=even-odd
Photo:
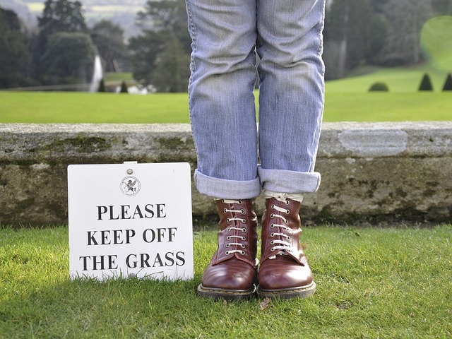
[{"label": "short green grass in the foreground under the boots and sign", "polygon": [[67,227],[0,229],[0,338],[451,338],[452,225],[306,227],[318,289],[213,302],[196,285],[215,230],[194,233],[194,280],[69,280]]}]

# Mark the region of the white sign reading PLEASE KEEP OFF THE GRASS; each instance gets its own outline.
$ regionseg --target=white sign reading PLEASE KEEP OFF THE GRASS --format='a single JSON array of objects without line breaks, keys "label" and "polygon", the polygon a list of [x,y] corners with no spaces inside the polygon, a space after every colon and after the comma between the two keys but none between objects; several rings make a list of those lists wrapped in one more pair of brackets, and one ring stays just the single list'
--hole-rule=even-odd
[{"label": "white sign reading PLEASE KEEP OFF THE GRASS", "polygon": [[69,165],[69,275],[193,278],[186,162]]}]

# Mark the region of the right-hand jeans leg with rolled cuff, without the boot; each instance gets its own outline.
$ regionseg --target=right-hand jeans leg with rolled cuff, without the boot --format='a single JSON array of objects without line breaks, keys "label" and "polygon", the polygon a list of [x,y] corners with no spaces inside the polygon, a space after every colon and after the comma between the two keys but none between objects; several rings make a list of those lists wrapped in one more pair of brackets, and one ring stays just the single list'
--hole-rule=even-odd
[{"label": "right-hand jeans leg with rolled cuff, without the boot", "polygon": [[316,191],[323,114],[323,0],[258,0],[258,175],[263,189]]}]

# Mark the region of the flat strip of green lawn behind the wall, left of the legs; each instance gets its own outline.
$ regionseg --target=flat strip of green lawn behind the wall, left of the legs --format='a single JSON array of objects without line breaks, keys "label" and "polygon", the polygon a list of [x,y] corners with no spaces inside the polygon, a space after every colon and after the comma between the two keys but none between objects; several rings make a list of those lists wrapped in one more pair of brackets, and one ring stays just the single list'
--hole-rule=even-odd
[{"label": "flat strip of green lawn behind the wall, left of the legs", "polygon": [[188,123],[186,93],[0,92],[1,123]]}]

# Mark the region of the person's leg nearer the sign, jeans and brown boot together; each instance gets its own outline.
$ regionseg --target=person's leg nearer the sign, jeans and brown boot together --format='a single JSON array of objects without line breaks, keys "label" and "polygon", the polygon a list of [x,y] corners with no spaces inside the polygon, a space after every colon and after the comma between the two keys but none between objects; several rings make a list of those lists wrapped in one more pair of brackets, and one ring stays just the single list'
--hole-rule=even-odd
[{"label": "person's leg nearer the sign, jeans and brown boot together", "polygon": [[256,1],[186,0],[192,42],[189,107],[196,188],[217,199],[218,249],[198,295],[242,299],[256,290]]}]

